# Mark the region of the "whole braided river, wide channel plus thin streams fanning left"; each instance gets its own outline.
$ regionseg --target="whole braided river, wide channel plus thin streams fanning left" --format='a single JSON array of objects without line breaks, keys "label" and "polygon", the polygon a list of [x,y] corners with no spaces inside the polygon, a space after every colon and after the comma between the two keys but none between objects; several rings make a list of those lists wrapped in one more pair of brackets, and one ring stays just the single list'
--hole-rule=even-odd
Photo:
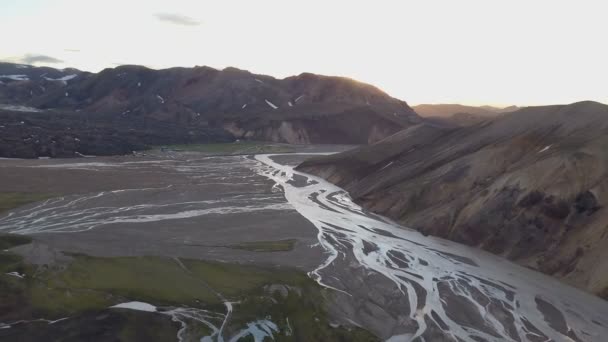
[{"label": "whole braided river, wide channel plus thin streams fanning left", "polygon": [[[177,226],[186,221],[205,222],[210,216],[249,215],[253,219],[256,212],[295,209],[317,228],[319,246],[325,251],[324,261],[310,276],[347,301],[384,306],[381,309],[396,322],[384,336],[389,340],[433,341],[438,334],[442,340],[460,341],[604,341],[608,336],[608,302],[503,258],[424,237],[368,213],[344,190],[275,159],[257,155],[41,162],[36,167],[93,172],[117,169],[161,176],[179,173],[189,181],[186,185],[163,183],[50,199],[0,218],[0,231],[74,233],[151,222]],[[288,159],[293,162],[298,157],[291,154]],[[276,191],[269,194],[268,182],[261,182],[260,175],[271,179]],[[239,191],[253,183],[255,189],[265,191]],[[215,185],[230,191],[217,197],[201,190]],[[214,329],[221,331],[224,314],[205,318],[201,312],[186,310],[175,311],[172,317],[182,317],[183,324],[193,319],[213,322]],[[345,320],[372,328],[377,324],[373,316],[353,314]],[[245,330],[254,339],[273,331],[263,321],[252,322]],[[371,330],[378,333],[380,328]]]}]

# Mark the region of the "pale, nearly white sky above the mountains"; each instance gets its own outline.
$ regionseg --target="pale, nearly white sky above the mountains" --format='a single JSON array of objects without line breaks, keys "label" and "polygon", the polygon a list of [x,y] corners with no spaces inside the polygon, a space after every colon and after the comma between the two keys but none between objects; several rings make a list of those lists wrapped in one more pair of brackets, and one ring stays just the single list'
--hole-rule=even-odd
[{"label": "pale, nearly white sky above the mountains", "polygon": [[608,103],[605,0],[0,0],[0,60],[351,77],[420,103]]}]

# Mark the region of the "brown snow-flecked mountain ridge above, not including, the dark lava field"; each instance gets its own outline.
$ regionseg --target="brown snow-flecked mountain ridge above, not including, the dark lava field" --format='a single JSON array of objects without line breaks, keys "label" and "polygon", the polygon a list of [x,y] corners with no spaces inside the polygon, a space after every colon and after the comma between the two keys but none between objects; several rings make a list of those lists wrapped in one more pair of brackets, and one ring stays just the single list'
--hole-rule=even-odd
[{"label": "brown snow-flecked mountain ridge above, not including, the dark lava field", "polygon": [[235,68],[121,66],[93,74],[1,63],[0,81],[0,109],[26,107],[38,120],[78,113],[90,126],[110,121],[118,132],[165,135],[163,125],[179,127],[175,143],[186,131],[205,137],[193,142],[367,144],[420,122],[405,102],[371,85],[308,73],[275,79]]}]

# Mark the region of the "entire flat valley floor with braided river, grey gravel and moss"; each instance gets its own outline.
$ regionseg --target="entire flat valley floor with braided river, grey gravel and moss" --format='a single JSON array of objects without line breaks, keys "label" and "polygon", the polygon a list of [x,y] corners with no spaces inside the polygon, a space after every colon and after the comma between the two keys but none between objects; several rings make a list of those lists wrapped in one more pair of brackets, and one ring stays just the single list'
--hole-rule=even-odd
[{"label": "entire flat valley floor with braided river, grey gravel and moss", "polygon": [[0,207],[9,210],[0,232],[33,238],[0,240],[8,303],[0,338],[601,341],[608,333],[608,303],[370,214],[294,171],[306,157],[157,151],[0,161]]}]

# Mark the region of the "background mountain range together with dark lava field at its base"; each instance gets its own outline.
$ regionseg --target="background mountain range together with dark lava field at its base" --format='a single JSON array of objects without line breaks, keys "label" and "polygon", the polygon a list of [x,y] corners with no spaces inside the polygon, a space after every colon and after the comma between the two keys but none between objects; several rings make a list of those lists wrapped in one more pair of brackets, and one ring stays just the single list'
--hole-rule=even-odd
[{"label": "background mountain range together with dark lava field at its base", "polygon": [[0,103],[1,157],[236,139],[367,144],[421,121],[407,103],[348,78],[276,79],[236,68],[89,73],[0,63]]}]

